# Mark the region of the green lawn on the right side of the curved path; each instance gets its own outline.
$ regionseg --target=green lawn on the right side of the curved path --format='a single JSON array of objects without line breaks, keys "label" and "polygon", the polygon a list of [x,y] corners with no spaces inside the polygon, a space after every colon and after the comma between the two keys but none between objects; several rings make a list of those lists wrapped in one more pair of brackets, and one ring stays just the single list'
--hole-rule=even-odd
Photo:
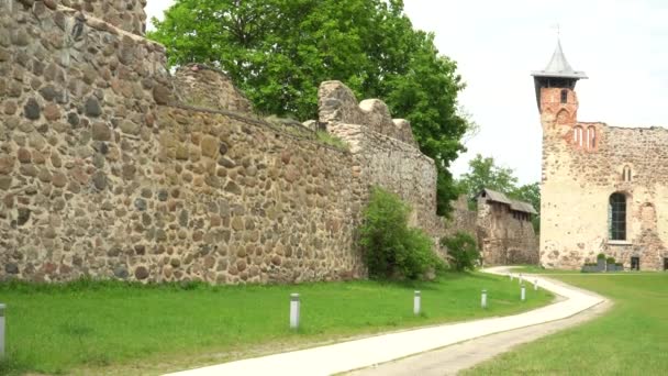
[{"label": "green lawn on the right side of the curved path", "polygon": [[603,317],[546,336],[465,375],[665,375],[668,274],[554,276],[612,298]]}]

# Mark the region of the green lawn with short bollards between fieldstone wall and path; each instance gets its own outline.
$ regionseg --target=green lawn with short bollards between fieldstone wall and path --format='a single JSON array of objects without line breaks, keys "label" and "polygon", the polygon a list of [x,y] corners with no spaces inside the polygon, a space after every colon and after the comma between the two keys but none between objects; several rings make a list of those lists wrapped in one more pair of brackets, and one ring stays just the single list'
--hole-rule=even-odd
[{"label": "green lawn with short bollards between fieldstone wall and path", "polygon": [[[479,307],[483,288],[487,310]],[[412,312],[415,289],[422,291],[420,317]],[[301,294],[298,332],[288,328],[290,292]],[[510,314],[553,299],[527,289],[522,303],[519,295],[516,280],[479,273],[415,284],[0,285],[9,354],[0,374],[156,374],[325,340]]]}]

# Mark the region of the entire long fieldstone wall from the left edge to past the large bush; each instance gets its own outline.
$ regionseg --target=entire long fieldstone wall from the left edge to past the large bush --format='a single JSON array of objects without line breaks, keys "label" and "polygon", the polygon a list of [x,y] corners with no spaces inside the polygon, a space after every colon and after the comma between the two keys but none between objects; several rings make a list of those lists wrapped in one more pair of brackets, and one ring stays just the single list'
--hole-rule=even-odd
[{"label": "entire long fieldstone wall from the left edge to past the large bush", "polygon": [[[374,185],[443,230],[434,163],[379,101],[339,112],[361,122],[331,128],[356,132],[342,151],[244,114],[218,73],[171,77],[162,46],[75,9],[2,0],[0,24],[0,279],[357,278]],[[209,109],[187,106],[198,93]]]}]

